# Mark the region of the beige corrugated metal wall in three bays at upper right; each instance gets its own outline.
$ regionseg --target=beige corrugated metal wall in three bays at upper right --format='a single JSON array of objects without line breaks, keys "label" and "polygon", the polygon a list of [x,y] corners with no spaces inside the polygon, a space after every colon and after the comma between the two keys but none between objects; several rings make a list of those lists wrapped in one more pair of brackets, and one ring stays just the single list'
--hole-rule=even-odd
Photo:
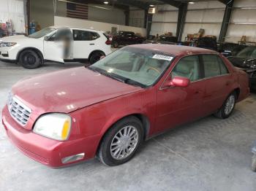
[{"label": "beige corrugated metal wall in three bays at upper right", "polygon": [[[235,0],[227,28],[226,42],[238,42],[241,36],[246,41],[256,42],[256,0]],[[170,5],[157,7],[157,14],[153,15],[151,34],[165,34],[168,31],[176,35],[178,9]],[[187,34],[195,34],[200,28],[205,29],[205,35],[219,37],[225,4],[219,1],[195,2],[189,4],[182,40]]]}]

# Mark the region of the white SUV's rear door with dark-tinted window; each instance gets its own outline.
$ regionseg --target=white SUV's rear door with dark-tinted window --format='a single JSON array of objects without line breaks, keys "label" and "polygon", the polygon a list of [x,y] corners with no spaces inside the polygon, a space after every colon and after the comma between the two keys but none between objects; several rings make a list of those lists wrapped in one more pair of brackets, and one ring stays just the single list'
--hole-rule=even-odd
[{"label": "white SUV's rear door with dark-tinted window", "polygon": [[73,56],[74,58],[86,59],[92,51],[99,47],[99,34],[94,31],[73,29]]}]

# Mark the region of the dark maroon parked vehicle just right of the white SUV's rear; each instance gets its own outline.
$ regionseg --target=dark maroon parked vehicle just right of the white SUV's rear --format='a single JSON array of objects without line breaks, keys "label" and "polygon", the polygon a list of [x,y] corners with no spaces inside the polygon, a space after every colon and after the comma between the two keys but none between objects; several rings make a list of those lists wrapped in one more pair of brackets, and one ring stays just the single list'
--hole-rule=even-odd
[{"label": "dark maroon parked vehicle just right of the white SUV's rear", "polygon": [[138,36],[134,32],[118,31],[116,35],[112,36],[112,45],[117,48],[119,45],[142,44],[144,40],[144,37]]}]

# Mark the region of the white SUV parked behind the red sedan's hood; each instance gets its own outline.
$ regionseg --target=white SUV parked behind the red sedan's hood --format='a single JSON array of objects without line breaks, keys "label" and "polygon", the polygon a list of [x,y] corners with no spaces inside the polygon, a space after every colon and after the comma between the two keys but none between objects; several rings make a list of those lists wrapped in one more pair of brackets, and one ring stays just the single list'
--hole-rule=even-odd
[{"label": "white SUV parked behind the red sedan's hood", "polygon": [[29,36],[0,39],[0,60],[36,69],[45,61],[64,63],[89,59],[95,63],[111,52],[110,40],[102,31],[50,26]]}]

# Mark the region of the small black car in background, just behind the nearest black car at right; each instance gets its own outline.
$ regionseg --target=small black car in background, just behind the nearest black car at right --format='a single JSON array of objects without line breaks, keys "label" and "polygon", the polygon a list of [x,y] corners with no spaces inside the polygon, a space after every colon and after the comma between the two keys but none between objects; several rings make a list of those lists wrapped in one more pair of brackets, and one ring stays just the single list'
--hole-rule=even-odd
[{"label": "small black car in background, just behind the nearest black car at right", "polygon": [[221,42],[218,45],[218,51],[222,53],[222,55],[227,56],[233,56],[237,55],[238,52],[243,50],[246,45],[241,45],[237,43],[232,43],[232,42]]}]

